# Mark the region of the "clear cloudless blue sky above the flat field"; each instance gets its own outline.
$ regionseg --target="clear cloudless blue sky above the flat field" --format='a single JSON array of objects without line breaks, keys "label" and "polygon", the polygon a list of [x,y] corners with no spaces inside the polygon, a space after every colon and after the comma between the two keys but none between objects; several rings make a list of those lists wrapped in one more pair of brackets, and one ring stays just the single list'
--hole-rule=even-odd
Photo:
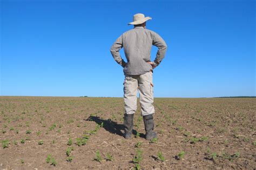
[{"label": "clear cloudless blue sky above the flat field", "polygon": [[0,12],[1,96],[122,97],[110,47],[135,13],[168,46],[155,97],[255,96],[255,1],[2,0]]}]

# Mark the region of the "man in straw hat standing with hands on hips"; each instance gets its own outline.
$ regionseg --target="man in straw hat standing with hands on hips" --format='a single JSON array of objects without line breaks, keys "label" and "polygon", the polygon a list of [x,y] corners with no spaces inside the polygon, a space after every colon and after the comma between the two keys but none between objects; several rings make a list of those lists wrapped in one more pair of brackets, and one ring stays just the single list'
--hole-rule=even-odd
[{"label": "man in straw hat standing with hands on hips", "polygon": [[[126,31],[111,47],[111,53],[116,62],[124,67],[124,137],[130,139],[133,129],[133,115],[137,110],[137,90],[142,107],[142,116],[145,125],[146,139],[157,137],[154,130],[153,104],[153,69],[157,67],[165,56],[167,45],[156,33],[146,29],[146,21],[152,19],[142,13],[133,16],[134,29]],[[151,47],[158,47],[157,57],[151,62]],[[127,63],[121,58],[119,50],[124,47]]]}]

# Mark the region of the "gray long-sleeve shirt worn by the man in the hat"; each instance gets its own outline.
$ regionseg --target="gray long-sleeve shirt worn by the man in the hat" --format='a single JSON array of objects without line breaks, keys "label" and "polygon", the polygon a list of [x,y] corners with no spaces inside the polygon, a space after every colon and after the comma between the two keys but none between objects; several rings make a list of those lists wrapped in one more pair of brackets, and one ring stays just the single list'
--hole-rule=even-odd
[{"label": "gray long-sleeve shirt worn by the man in the hat", "polygon": [[[150,62],[151,47],[158,47],[157,57],[153,64],[158,66],[165,56],[167,45],[156,32],[138,26],[124,32],[111,47],[116,62],[124,67],[125,75],[140,75],[152,70]],[[119,50],[124,47],[127,63],[120,56]]]}]

